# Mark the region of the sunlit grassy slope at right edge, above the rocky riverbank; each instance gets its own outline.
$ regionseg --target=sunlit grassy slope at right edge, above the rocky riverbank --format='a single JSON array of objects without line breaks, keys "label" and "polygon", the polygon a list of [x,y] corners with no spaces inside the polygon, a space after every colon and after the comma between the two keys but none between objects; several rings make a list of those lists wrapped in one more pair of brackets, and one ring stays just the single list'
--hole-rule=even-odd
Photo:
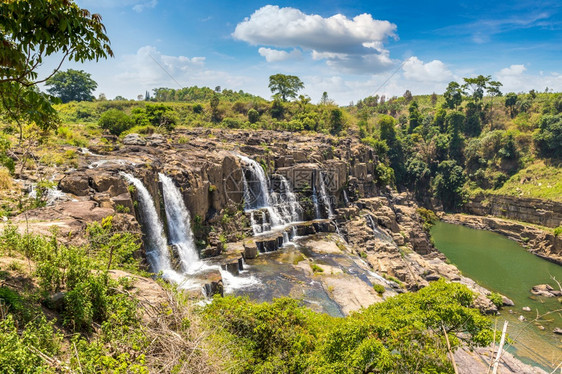
[{"label": "sunlit grassy slope at right edge, above the rocky riverbank", "polygon": [[537,161],[509,178],[501,188],[485,192],[562,202],[562,168]]}]

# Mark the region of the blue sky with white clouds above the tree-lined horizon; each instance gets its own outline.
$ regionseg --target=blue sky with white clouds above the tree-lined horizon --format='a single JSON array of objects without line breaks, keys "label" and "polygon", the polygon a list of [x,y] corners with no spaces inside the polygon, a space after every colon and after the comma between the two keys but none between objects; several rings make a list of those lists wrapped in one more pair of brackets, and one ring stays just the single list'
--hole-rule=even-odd
[{"label": "blue sky with white clouds above the tree-lined horizon", "polygon": [[327,91],[341,105],[441,93],[478,74],[504,92],[562,91],[560,1],[77,2],[102,15],[116,56],[63,69],[90,72],[108,98],[192,85],[269,98],[276,73],[299,76],[313,102]]}]

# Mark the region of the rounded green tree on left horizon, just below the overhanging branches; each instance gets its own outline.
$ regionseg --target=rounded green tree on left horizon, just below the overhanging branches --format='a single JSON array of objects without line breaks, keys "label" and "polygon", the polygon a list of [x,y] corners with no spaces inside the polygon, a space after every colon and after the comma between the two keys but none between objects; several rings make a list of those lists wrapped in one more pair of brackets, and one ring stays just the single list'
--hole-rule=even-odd
[{"label": "rounded green tree on left horizon, just below the overhanging branches", "polygon": [[47,91],[61,99],[63,103],[92,101],[94,99],[92,93],[98,87],[89,73],[74,69],[57,72],[45,85],[49,87]]}]

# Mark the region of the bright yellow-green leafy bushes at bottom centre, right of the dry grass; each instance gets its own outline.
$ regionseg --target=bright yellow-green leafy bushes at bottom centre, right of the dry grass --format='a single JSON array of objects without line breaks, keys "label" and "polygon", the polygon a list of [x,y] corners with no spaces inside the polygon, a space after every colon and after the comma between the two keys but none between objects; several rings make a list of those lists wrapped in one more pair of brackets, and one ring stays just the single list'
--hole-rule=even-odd
[{"label": "bright yellow-green leafy bushes at bottom centre, right of the dry grass", "polygon": [[317,314],[283,298],[255,304],[216,298],[206,310],[231,342],[239,373],[451,373],[443,329],[453,349],[490,344],[489,320],[469,307],[474,295],[435,282],[346,318]]}]

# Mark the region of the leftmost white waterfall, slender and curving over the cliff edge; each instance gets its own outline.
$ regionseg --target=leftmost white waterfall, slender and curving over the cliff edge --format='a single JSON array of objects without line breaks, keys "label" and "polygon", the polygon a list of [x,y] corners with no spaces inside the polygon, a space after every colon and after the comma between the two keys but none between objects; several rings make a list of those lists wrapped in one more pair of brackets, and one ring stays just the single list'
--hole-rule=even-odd
[{"label": "leftmost white waterfall, slender and curving over the cliff edge", "polygon": [[120,174],[129,183],[135,186],[138,192],[140,204],[139,213],[142,217],[146,232],[146,257],[152,271],[154,273],[158,273],[160,271],[171,272],[172,266],[170,263],[170,255],[168,254],[166,237],[164,236],[164,228],[162,226],[162,222],[160,222],[158,213],[156,212],[154,200],[152,199],[150,192],[148,192],[144,184],[139,179],[133,177],[131,174],[124,172],[121,172]]}]

